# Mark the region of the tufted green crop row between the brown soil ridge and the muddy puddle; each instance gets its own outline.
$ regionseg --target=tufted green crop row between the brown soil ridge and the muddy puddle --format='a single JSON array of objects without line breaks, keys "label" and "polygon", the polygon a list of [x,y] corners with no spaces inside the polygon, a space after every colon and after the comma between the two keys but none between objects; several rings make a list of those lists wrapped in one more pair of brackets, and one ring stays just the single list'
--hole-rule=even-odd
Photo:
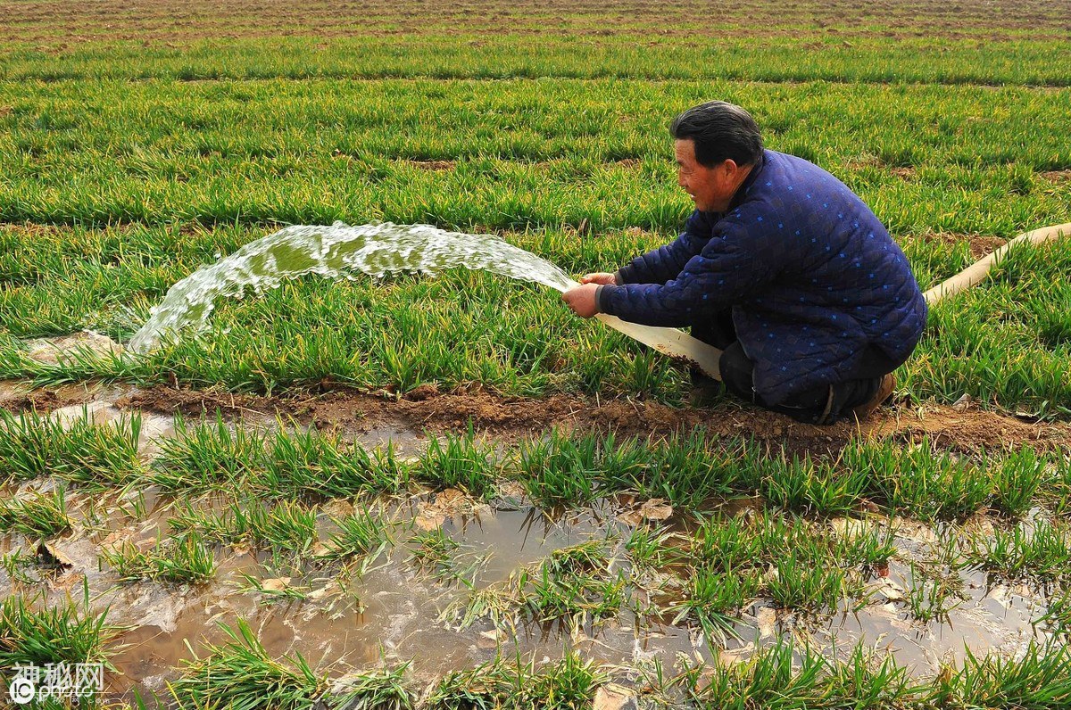
[{"label": "tufted green crop row between the brown soil ridge and the muddy puddle", "polygon": [[108,425],[78,420],[63,429],[43,416],[0,410],[0,475],[55,475],[90,490],[155,485],[171,494],[242,490],[312,502],[396,494],[418,483],[491,500],[502,481],[515,480],[544,509],[624,492],[685,509],[760,494],[774,507],[802,513],[845,514],[869,501],[925,520],[963,519],[985,508],[1016,518],[1037,505],[1061,516],[1071,505],[1068,452],[1039,454],[1027,447],[970,459],[929,441],[906,450],[890,440],[856,441],[836,456],[800,458],[744,439],[708,437],[702,428],[664,441],[555,429],[498,455],[470,430],[435,438],[410,459],[315,430],[260,434],[231,430],[222,419],[180,419],[174,438],[161,439],[160,455],[144,464],[137,429],[136,418]]}]

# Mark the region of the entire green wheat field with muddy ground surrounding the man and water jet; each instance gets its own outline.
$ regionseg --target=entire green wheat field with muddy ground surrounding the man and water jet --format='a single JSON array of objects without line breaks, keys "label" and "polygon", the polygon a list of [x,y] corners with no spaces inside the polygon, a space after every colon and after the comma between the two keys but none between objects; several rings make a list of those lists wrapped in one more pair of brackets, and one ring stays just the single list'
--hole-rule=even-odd
[{"label": "entire green wheat field with muddy ground surrounding the man and water jet", "polygon": [[0,692],[64,662],[105,668],[79,708],[1071,707],[1071,239],[825,428],[694,406],[485,272],[303,276],[121,351],[293,224],[613,271],[682,228],[668,123],[711,99],[930,288],[1071,222],[1071,3],[218,5],[0,1]]}]

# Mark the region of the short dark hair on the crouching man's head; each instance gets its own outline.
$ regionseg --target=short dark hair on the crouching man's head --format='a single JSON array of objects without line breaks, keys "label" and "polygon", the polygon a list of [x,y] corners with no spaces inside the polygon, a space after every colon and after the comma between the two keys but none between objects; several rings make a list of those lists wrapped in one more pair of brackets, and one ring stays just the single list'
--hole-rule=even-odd
[{"label": "short dark hair on the crouching man's head", "polygon": [[708,168],[733,158],[751,165],[763,154],[763,136],[751,114],[724,101],[693,106],[669,124],[677,140],[695,142],[695,160]]}]

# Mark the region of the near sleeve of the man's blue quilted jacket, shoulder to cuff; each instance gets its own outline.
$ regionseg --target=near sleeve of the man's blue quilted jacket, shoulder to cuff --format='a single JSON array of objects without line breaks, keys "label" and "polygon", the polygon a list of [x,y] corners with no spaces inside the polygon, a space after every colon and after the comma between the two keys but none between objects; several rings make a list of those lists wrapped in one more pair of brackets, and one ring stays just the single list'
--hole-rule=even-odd
[{"label": "near sleeve of the man's blue quilted jacket, shoulder to cuff", "polygon": [[755,216],[735,213],[718,222],[713,237],[665,284],[599,289],[599,311],[645,326],[688,326],[756,294],[776,278],[778,255]]}]

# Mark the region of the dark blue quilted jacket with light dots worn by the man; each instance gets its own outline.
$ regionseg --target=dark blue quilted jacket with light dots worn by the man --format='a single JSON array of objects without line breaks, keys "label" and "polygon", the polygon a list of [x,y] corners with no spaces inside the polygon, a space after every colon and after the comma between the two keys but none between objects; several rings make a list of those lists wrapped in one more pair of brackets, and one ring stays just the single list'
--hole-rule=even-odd
[{"label": "dark blue quilted jacket with light dots worn by the man", "polygon": [[648,326],[731,306],[755,391],[770,404],[842,381],[868,345],[906,359],[926,322],[907,257],[859,197],[818,166],[764,152],[724,214],[696,210],[675,242],[602,286],[599,309]]}]

